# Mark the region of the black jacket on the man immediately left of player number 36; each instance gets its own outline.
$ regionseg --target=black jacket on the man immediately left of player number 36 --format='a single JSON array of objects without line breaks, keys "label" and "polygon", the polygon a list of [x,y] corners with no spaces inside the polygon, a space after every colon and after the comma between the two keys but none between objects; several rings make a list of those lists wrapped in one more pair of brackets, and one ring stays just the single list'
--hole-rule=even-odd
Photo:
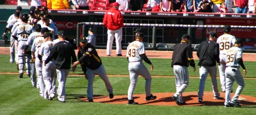
[{"label": "black jacket on the man immediately left of player number 36", "polygon": [[217,42],[203,41],[197,50],[197,57],[199,57],[199,66],[212,67],[216,66],[216,62],[220,63],[220,49]]}]

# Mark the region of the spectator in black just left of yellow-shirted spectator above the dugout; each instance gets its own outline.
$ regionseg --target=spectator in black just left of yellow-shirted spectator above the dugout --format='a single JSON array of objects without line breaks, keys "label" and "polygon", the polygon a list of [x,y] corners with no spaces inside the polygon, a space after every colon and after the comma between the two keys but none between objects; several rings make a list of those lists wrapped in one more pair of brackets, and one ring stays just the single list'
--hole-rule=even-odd
[{"label": "spectator in black just left of yellow-shirted spectator above the dugout", "polygon": [[201,1],[199,3],[199,7],[197,7],[197,9],[199,10],[198,12],[212,12],[212,7],[211,7],[212,4],[213,2],[210,0]]}]

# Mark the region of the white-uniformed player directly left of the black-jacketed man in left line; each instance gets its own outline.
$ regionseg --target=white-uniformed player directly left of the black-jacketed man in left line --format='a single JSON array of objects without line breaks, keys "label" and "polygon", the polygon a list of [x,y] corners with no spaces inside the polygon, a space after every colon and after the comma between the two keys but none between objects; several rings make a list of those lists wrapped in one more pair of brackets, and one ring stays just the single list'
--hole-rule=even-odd
[{"label": "white-uniformed player directly left of the black-jacketed man in left line", "polygon": [[[47,57],[49,56],[49,53],[51,52],[51,49],[55,42],[52,40],[52,33],[46,32],[46,34],[43,35],[44,37],[44,43],[41,45],[40,50],[38,52],[39,59],[43,61],[43,63],[46,61]],[[43,56],[43,57],[42,57]],[[55,97],[54,89],[52,86],[53,80],[55,80],[55,61],[52,59],[42,67],[43,71],[43,79],[45,84],[44,93],[49,97],[49,100],[52,100]]]}]

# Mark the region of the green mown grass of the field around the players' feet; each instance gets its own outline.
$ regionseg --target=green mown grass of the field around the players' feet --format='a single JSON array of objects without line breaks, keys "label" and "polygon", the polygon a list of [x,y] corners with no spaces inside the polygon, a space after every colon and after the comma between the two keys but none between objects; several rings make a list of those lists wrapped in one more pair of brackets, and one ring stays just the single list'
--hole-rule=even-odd
[{"label": "green mown grass of the field around the players' feet", "polygon": [[[129,77],[111,75],[129,75],[127,60],[121,57],[101,58],[106,73],[109,74],[114,95],[127,95]],[[0,55],[1,73],[18,73],[15,63],[9,63],[9,55]],[[154,71],[151,75],[173,76],[170,59],[151,59]],[[197,63],[197,61],[196,61]],[[149,65],[145,64],[147,67]],[[255,78],[254,65],[256,62],[245,62],[247,75],[245,78]],[[199,67],[193,72],[189,67],[190,76],[199,76]],[[77,69],[75,74],[81,74]],[[72,73],[71,73],[72,74]],[[220,88],[220,80],[218,79]],[[243,95],[256,97],[256,79],[245,79],[246,86]],[[221,106],[156,106],[156,105],[119,105],[106,103],[88,103],[80,101],[79,97],[86,97],[87,81],[83,76],[69,75],[67,79],[66,103],[59,103],[56,98],[53,101],[39,97],[39,90],[33,88],[30,78],[24,75],[23,79],[18,74],[0,74],[0,114],[255,114],[256,105],[243,106],[242,108],[224,108]],[[199,77],[190,78],[189,86],[185,92],[196,92],[199,87]],[[237,84],[234,84],[237,87]],[[108,96],[104,82],[96,77],[94,79],[94,95]],[[174,78],[153,78],[151,92],[175,92]],[[211,91],[210,79],[207,79],[205,91]],[[144,79],[139,77],[134,93],[144,94]]]}]

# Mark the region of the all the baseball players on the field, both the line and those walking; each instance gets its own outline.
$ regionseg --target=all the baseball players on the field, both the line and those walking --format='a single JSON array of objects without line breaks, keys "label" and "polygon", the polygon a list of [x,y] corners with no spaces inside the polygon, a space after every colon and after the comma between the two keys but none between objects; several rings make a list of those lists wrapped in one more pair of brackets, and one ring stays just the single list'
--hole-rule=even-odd
[{"label": "all the baseball players on the field, both the line and those walking", "polygon": [[[65,32],[58,31],[56,25],[48,15],[47,9],[39,10],[31,7],[30,14],[22,13],[22,7],[18,6],[14,15],[11,15],[3,35],[9,30],[11,33],[10,45],[10,63],[16,62],[19,70],[19,78],[23,78],[24,66],[26,74],[31,78],[33,87],[40,89],[39,96],[44,99],[52,100],[56,92],[56,78],[58,78],[58,100],[65,103],[65,81],[68,71],[71,68],[71,58],[73,62],[73,72],[76,66],[81,65],[85,78],[88,79],[88,100],[93,102],[93,80],[95,74],[98,74],[104,80],[109,97],[112,99],[113,88],[106,76],[106,71],[102,61],[97,54],[95,45],[95,36],[93,29],[89,28],[90,41],[85,38],[80,39],[80,47],[77,56],[68,41],[65,41]],[[217,88],[217,69],[220,72],[221,90],[225,92],[225,107],[241,107],[238,103],[238,96],[241,94],[245,82],[239,70],[243,68],[243,75],[246,75],[246,69],[242,60],[242,41],[229,34],[230,25],[225,25],[224,35],[217,38],[216,33],[210,33],[209,40],[203,41],[197,50],[199,57],[199,103],[203,103],[205,80],[208,73],[212,78],[213,98],[218,99],[220,93]],[[91,36],[92,35],[92,36]],[[151,61],[147,58],[143,45],[143,33],[141,29],[135,32],[135,41],[127,46],[127,61],[129,62],[130,86],[128,90],[127,104],[138,104],[133,99],[133,93],[137,84],[138,75],[142,75],[146,80],[145,91],[146,101],[155,100],[156,96],[151,91],[151,75],[144,66],[143,60],[148,63],[151,70],[154,69]],[[92,42],[92,43],[91,43]],[[196,64],[193,60],[192,48],[189,45],[191,38],[185,34],[181,38],[180,44],[174,46],[171,67],[174,68],[176,93],[172,99],[178,105],[185,104],[182,93],[189,85],[188,66],[192,66],[196,71]],[[63,50],[65,49],[65,50]],[[65,51],[65,52],[64,52]],[[67,53],[69,52],[69,53]],[[68,63],[69,65],[68,65]],[[36,75],[38,76],[36,82]],[[237,81],[238,88],[233,98],[230,98],[234,81]]]}]

